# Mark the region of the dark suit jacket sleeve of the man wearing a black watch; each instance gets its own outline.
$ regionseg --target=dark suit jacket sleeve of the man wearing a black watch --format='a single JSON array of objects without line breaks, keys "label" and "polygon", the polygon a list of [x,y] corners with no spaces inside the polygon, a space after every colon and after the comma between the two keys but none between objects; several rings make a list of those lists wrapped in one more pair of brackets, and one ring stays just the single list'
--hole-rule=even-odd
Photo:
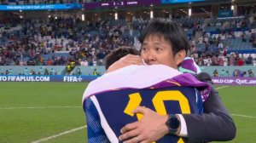
[{"label": "dark suit jacket sleeve of the man wearing a black watch", "polygon": [[211,92],[204,102],[204,113],[183,114],[189,142],[209,142],[232,140],[236,136],[236,126],[225,108],[218,91],[212,85],[212,78],[205,72],[196,76],[201,82],[211,84]]}]

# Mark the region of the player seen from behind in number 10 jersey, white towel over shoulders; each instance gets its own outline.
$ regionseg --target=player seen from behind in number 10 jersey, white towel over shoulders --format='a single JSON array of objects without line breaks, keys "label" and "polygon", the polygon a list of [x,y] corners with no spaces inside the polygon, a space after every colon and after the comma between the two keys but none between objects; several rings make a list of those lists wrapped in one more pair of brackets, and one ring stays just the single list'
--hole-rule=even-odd
[{"label": "player seen from behind in number 10 jersey, white towel over shoulders", "polygon": [[[139,52],[129,47],[114,50],[107,56],[106,69],[126,54],[138,55]],[[151,77],[150,82],[148,77]],[[186,80],[183,81],[184,79]],[[120,84],[119,81],[123,82]],[[136,106],[147,106],[162,115],[201,114],[201,93],[191,87],[204,89],[207,84],[196,83],[195,77],[190,74],[183,75],[168,66],[132,66],[113,72],[110,76],[104,75],[90,83],[84,92],[89,142],[118,142],[117,136],[120,135],[121,127],[141,118],[139,115],[134,117],[131,112]],[[135,104],[137,98],[141,98],[139,104]],[[186,142],[186,139],[166,135],[157,142],[178,141]]]}]

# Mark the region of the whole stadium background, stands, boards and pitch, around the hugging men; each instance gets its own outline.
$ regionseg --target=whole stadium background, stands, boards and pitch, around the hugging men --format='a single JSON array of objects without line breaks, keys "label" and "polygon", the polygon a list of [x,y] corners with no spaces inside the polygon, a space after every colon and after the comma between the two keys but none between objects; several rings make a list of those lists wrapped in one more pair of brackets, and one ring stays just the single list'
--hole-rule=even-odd
[{"label": "whole stadium background, stands, boards and pitch, around the hugging men", "polygon": [[176,20],[189,56],[216,83],[236,139],[254,142],[253,0],[2,0],[0,142],[87,142],[81,99],[120,45],[139,49],[151,18]]}]

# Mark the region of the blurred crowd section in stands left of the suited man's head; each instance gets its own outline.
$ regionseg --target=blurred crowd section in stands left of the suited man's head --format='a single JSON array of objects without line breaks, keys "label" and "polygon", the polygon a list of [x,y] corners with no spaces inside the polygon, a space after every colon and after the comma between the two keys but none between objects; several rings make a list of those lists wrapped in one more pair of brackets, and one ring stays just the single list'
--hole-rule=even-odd
[{"label": "blurred crowd section in stands left of the suited man's head", "polygon": [[[102,65],[102,59],[120,45],[132,45],[129,26],[113,26],[110,20],[84,23],[77,18],[49,20],[5,19],[0,37],[0,65],[63,66]],[[9,32],[8,29],[17,28]],[[47,56],[48,54],[48,56]],[[46,59],[45,59],[46,58]]]}]

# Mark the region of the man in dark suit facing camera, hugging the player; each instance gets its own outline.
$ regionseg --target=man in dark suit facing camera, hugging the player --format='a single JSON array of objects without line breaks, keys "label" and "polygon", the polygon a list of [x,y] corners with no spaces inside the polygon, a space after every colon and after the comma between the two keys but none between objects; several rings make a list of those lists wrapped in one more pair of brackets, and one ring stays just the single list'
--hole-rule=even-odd
[{"label": "man in dark suit facing camera, hugging the player", "polygon": [[[175,22],[163,20],[154,20],[143,29],[141,43],[141,57],[128,54],[110,66],[108,72],[125,66],[143,65],[143,61],[148,65],[162,64],[177,69],[188,48],[187,36],[182,28]],[[197,78],[203,82],[212,82],[206,73],[198,74]],[[166,134],[186,137],[189,142],[234,139],[235,123],[213,87],[203,106],[204,113],[201,116],[191,113],[176,114],[174,117],[160,116],[148,108],[138,107],[134,113],[143,113],[142,120],[125,125],[119,140],[152,142]]]}]

